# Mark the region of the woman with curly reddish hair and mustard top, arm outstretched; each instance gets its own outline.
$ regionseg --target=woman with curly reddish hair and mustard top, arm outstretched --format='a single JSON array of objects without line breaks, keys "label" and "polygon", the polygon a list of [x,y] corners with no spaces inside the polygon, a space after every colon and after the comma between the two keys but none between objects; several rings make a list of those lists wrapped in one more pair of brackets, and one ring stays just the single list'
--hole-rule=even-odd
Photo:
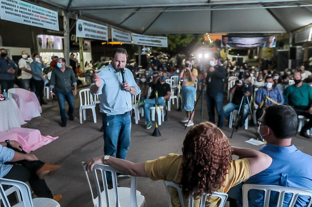
[{"label": "woman with curly reddish hair and mustard top, arm outstretched", "polygon": [[[187,132],[182,152],[137,164],[100,156],[86,161],[85,165],[90,172],[95,164],[105,161],[125,174],[179,183],[185,200],[193,193],[194,206],[199,206],[203,193],[226,193],[232,186],[268,168],[272,162],[271,157],[259,151],[232,147],[225,134],[211,122],[200,123]],[[233,154],[242,159],[232,160]],[[169,188],[169,194],[172,206],[181,206],[178,191]],[[218,201],[217,197],[207,196],[206,206],[218,206]]]}]

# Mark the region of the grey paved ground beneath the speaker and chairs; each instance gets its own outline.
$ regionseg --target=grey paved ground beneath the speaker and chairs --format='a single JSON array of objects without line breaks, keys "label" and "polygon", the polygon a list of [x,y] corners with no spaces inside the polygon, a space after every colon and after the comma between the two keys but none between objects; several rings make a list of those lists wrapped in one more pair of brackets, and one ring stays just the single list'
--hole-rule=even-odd
[{"label": "grey paved ground beneath the speaker and chairs", "polygon": [[[199,94],[197,94],[199,95]],[[197,96],[198,97],[198,96]],[[52,177],[46,178],[46,182],[52,193],[62,194],[62,207],[73,206],[93,206],[89,187],[83,168],[80,164],[94,156],[103,154],[103,133],[101,128],[101,114],[97,106],[97,123],[93,123],[91,110],[87,109],[87,119],[82,125],[79,123],[79,95],[75,97],[74,121],[68,121],[67,127],[60,127],[60,114],[57,101],[48,99],[48,105],[42,107],[41,117],[33,118],[29,123],[22,127],[39,129],[42,135],[59,136],[52,143],[32,152],[42,161],[49,164],[59,164],[62,166],[60,171]],[[201,102],[195,110],[194,122],[200,122]],[[172,105],[172,110],[168,113],[170,121],[163,122],[159,127],[160,137],[151,136],[153,127],[145,129],[144,118],[141,117],[139,124],[132,120],[131,146],[127,154],[127,160],[134,163],[156,159],[168,153],[182,153],[182,144],[187,130],[180,122],[185,117],[185,112],[178,112],[176,105]],[[216,117],[217,119],[217,117]],[[204,103],[203,121],[208,120],[207,106]],[[217,120],[216,120],[217,121]],[[225,121],[227,124],[227,121]],[[227,126],[223,129],[229,137],[231,129]],[[239,130],[234,133],[230,142],[233,146],[259,149],[245,141],[255,137],[255,128],[249,127],[248,130]],[[308,154],[311,154],[311,140],[297,136],[293,139],[296,147]],[[119,179],[121,186],[129,186],[130,179]],[[94,186],[94,185],[93,185]],[[149,178],[138,178],[137,190],[145,196],[147,206],[168,206],[168,198],[162,181],[151,181]],[[96,189],[94,188],[96,194]]]}]

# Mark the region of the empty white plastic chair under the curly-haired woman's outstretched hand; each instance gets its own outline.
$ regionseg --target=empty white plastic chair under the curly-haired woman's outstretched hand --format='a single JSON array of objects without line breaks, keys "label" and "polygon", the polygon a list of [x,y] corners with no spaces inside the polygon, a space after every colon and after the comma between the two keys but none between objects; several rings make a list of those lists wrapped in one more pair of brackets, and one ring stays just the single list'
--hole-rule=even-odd
[{"label": "empty white plastic chair under the curly-haired woman's outstretched hand", "polygon": [[[81,162],[82,165],[83,163],[84,162]],[[83,168],[85,171],[85,167]],[[99,182],[99,178],[96,173],[96,170],[100,170],[101,172],[101,176],[102,176],[101,185],[102,186],[100,186],[100,182]],[[113,188],[110,190],[107,187],[105,171],[112,173]],[[85,176],[87,177],[94,207],[110,207],[110,206],[146,207],[145,197],[141,195],[140,191],[136,190],[136,177],[131,176],[130,188],[117,187],[116,173],[119,173],[119,172],[108,165],[97,164],[94,166],[93,176],[95,179],[96,189],[98,191],[98,196],[94,197],[88,174],[85,171]],[[101,191],[101,188],[104,189],[104,191]]]}]

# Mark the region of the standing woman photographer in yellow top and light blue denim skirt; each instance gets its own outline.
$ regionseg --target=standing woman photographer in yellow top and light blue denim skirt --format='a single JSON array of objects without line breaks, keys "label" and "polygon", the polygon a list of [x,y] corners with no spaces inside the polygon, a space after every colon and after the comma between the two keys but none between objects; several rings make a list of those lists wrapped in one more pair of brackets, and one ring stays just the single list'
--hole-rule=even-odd
[{"label": "standing woman photographer in yellow top and light blue denim skirt", "polygon": [[191,127],[194,125],[193,117],[194,112],[194,102],[195,102],[195,94],[196,90],[194,87],[195,79],[198,75],[196,69],[192,67],[192,62],[189,60],[185,61],[185,69],[180,71],[179,78],[183,78],[183,85],[182,85],[182,108],[186,112],[186,117],[181,120],[181,122],[188,122],[185,124],[187,127]]}]

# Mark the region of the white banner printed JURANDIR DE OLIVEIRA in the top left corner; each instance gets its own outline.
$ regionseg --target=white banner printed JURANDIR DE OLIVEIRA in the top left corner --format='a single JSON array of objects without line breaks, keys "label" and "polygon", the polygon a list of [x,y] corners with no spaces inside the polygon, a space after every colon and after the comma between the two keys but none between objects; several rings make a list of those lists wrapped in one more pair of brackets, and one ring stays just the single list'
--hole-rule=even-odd
[{"label": "white banner printed JURANDIR DE OLIVEIRA in the top left corner", "polygon": [[2,20],[59,31],[57,11],[28,2],[1,0],[0,17]]}]

